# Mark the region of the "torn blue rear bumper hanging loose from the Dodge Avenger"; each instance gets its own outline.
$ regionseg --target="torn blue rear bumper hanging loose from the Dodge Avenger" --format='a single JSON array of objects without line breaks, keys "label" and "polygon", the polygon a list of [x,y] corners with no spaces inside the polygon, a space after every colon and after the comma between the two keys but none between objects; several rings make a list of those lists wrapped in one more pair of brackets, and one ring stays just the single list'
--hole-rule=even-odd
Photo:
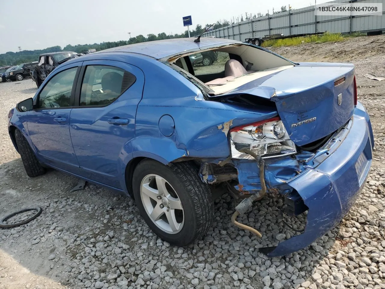
[{"label": "torn blue rear bumper hanging loose from the Dodge Avenger", "polygon": [[359,103],[349,131],[338,148],[314,168],[308,167],[286,182],[308,207],[305,231],[276,247],[259,250],[269,257],[290,254],[333,229],[365,186],[372,163],[373,142],[369,116]]}]

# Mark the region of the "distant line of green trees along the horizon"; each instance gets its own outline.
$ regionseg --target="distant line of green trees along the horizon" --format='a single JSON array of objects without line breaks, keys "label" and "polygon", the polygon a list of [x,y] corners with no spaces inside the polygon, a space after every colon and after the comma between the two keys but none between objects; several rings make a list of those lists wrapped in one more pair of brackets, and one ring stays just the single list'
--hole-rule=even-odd
[{"label": "distant line of green trees along the horizon", "polygon": [[[291,7],[289,6],[289,10]],[[280,13],[285,12],[286,6],[282,6],[280,10],[274,11],[273,13]],[[266,14],[268,15],[268,14]],[[257,13],[252,15],[251,13],[245,13],[245,19],[249,20],[252,18],[258,18],[262,17],[263,15],[261,13]],[[212,29],[218,29],[221,27],[226,27],[228,25],[234,24],[236,22],[244,21],[243,15],[241,17],[233,17],[231,20],[218,20],[212,27]],[[196,25],[195,29],[190,30],[190,36],[196,37],[202,32],[204,32],[206,27],[209,27],[212,24],[206,24],[205,27],[202,27],[202,25]],[[68,44],[63,49],[60,46],[52,46],[48,47],[46,49],[37,49],[37,50],[22,50],[20,52],[12,52],[9,51],[7,53],[0,54],[0,66],[11,66],[11,65],[18,65],[22,63],[27,62],[33,62],[39,60],[39,55],[43,53],[49,53],[49,52],[60,52],[60,51],[73,51],[77,53],[83,53],[87,52],[89,49],[96,49],[96,51],[123,46],[127,44],[135,44],[135,43],[141,43],[146,41],[154,41],[154,40],[162,40],[162,39],[171,39],[171,38],[184,38],[188,37],[188,31],[185,30],[181,34],[166,34],[165,32],[159,33],[158,35],[155,34],[147,34],[147,37],[140,34],[135,37],[130,37],[129,40],[120,40],[120,41],[112,41],[112,42],[102,42],[102,43],[94,43],[94,44],[77,44],[77,45],[70,45]]]}]

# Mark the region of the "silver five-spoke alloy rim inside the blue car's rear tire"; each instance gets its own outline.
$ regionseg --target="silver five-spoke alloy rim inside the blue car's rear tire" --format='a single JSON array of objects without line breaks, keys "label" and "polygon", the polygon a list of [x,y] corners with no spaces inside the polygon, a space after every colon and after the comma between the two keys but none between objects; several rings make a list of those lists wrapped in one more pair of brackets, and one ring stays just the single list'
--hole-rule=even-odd
[{"label": "silver five-spoke alloy rim inside the blue car's rear tire", "polygon": [[184,210],[176,191],[159,175],[147,175],[141,182],[141,200],[152,222],[168,234],[177,234],[184,225]]}]

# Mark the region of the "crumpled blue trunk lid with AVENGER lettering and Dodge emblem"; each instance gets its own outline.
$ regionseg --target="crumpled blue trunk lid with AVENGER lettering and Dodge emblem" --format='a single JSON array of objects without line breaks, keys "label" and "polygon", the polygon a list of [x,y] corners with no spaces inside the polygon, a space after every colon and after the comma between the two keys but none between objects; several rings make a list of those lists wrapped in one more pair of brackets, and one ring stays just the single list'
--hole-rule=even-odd
[{"label": "crumpled blue trunk lid with AVENGER lettering and Dodge emblem", "polygon": [[290,139],[302,146],[328,136],[352,118],[353,79],[353,64],[300,63],[219,97],[275,102]]}]

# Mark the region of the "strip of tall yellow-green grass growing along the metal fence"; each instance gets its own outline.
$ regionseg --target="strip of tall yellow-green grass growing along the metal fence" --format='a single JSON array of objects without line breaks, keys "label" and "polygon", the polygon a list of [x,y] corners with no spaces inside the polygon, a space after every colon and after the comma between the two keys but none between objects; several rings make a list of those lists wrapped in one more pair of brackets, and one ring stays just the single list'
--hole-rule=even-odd
[{"label": "strip of tall yellow-green grass growing along the metal fence", "polygon": [[[359,32],[358,32],[359,33]],[[355,32],[356,36],[358,35],[357,32]],[[351,35],[347,35],[348,37],[352,37]],[[293,37],[293,38],[285,38],[285,39],[272,39],[267,40],[262,43],[262,47],[281,47],[281,46],[298,46],[302,43],[323,43],[323,42],[341,42],[346,40],[347,37],[344,37],[341,33],[324,33],[324,34],[315,34],[315,35],[308,35],[303,37]]]}]

